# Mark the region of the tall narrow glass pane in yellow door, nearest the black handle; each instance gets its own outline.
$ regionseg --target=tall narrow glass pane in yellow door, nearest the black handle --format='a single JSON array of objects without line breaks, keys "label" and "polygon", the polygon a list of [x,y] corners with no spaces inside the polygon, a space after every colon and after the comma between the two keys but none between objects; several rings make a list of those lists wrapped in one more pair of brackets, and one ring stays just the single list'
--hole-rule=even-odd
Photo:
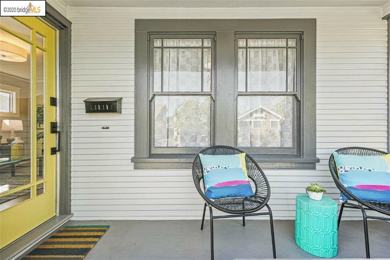
[{"label": "tall narrow glass pane in yellow door, nearest the black handle", "polygon": [[37,180],[44,178],[43,144],[44,144],[44,82],[45,82],[45,52],[37,48]]}]

